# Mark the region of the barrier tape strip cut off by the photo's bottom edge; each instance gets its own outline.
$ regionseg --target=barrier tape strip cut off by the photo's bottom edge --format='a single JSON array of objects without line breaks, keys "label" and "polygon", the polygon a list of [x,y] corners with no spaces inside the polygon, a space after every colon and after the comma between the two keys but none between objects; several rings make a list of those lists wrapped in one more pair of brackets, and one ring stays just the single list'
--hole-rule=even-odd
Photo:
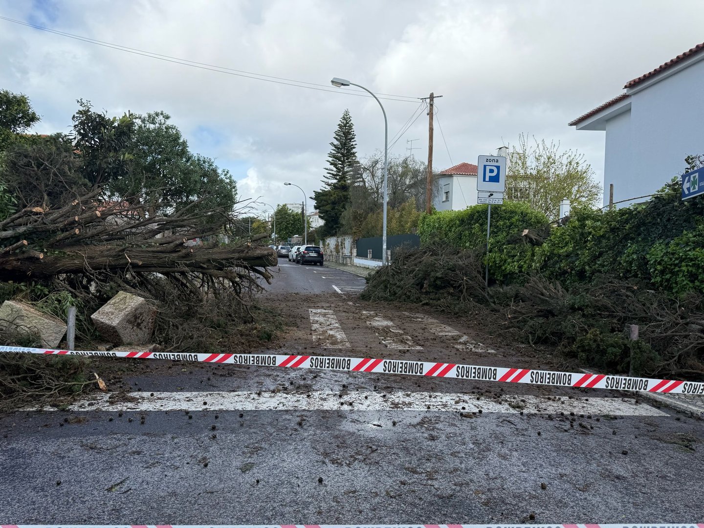
[{"label": "barrier tape strip cut off by the photo's bottom edge", "polygon": [[704,528],[704,524],[0,524],[0,528]]}]

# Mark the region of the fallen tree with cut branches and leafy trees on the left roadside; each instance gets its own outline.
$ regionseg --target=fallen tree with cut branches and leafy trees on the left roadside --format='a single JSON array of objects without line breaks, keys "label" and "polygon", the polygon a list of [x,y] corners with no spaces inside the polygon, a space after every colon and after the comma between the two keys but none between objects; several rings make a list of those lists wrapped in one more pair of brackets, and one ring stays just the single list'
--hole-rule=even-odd
[{"label": "fallen tree with cut branches and leafy trees on the left roadside", "polygon": [[[254,295],[277,259],[239,222],[247,204],[227,170],[191,152],[163,112],[111,117],[77,103],[68,134],[30,134],[30,100],[0,91],[0,303],[62,320],[77,307],[79,349],[100,342],[90,315],[118,291],[156,308],[153,343],[167,351],[271,339],[275,318]],[[38,344],[7,331],[0,341]],[[94,383],[88,364],[1,354],[4,401],[79,390]]]}]

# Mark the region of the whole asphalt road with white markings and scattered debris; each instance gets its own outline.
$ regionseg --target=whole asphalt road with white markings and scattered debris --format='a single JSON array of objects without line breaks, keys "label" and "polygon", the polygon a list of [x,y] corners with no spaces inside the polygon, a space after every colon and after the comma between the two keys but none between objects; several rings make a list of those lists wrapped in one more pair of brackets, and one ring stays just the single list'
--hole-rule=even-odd
[{"label": "whole asphalt road with white markings and scattered debris", "polygon": [[[265,301],[298,326],[277,353],[545,361],[280,263]],[[120,389],[0,416],[0,524],[704,520],[703,422],[630,394],[187,363]]]}]

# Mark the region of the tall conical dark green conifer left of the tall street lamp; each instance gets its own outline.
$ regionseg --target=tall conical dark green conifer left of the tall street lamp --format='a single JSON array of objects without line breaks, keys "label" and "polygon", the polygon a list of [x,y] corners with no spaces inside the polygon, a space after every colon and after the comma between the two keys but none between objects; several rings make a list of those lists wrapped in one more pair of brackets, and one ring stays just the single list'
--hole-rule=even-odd
[{"label": "tall conical dark green conifer left of the tall street lamp", "polygon": [[354,125],[348,110],[344,111],[335,130],[332,149],[327,155],[329,167],[324,176],[323,188],[315,191],[315,208],[325,225],[320,229],[324,236],[337,234],[340,218],[348,203],[353,170],[359,164]]}]

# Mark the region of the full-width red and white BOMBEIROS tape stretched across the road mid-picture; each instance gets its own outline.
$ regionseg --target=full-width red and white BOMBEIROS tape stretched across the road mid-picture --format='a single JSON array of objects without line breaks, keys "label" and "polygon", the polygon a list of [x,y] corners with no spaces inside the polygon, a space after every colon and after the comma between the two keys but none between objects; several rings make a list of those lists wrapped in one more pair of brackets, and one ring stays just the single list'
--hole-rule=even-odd
[{"label": "full-width red and white BOMBEIROS tape stretched across the road mid-picture", "polygon": [[112,358],[170,359],[199,361],[203,363],[253,365],[257,367],[348,370],[350,372],[379,372],[382,374],[478,379],[486,382],[527,383],[531,385],[584,387],[587,389],[616,389],[666,394],[704,395],[703,382],[682,382],[674,379],[584,374],[583,372],[554,372],[552,370],[535,370],[529,368],[481,367],[477,365],[458,365],[455,363],[434,363],[428,361],[336,358],[330,356],[278,356],[273,354],[68,351],[20,346],[0,346],[0,353],[2,352]]}]

